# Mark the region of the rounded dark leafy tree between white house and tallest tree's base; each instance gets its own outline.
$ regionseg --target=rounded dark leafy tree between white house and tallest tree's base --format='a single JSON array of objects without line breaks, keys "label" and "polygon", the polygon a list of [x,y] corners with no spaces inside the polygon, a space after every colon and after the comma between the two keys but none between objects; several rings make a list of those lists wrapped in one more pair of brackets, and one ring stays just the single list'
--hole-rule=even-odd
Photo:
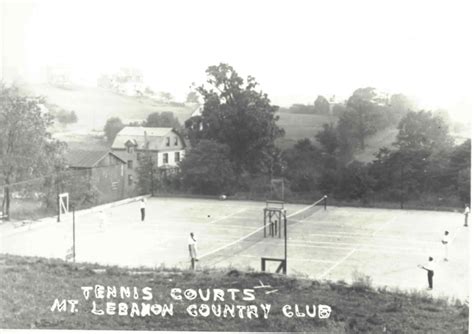
[{"label": "rounded dark leafy tree between white house and tallest tree's base", "polygon": [[230,149],[225,144],[201,140],[180,163],[183,186],[194,193],[218,195],[232,192],[235,184]]}]

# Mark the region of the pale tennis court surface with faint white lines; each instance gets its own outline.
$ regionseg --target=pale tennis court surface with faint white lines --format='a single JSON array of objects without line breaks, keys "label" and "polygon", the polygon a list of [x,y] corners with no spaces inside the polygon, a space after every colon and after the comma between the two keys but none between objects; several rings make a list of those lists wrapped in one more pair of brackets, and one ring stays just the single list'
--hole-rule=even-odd
[{"label": "pale tennis court surface with faint white lines", "polygon": [[[263,225],[263,202],[150,198],[146,220],[139,203],[76,213],[76,261],[133,267],[189,267],[187,239],[198,240],[198,269],[260,269],[261,257],[283,257],[283,238],[232,243]],[[286,204],[288,215],[304,205]],[[345,280],[368,275],[375,286],[425,290],[426,272],[417,268],[436,260],[434,295],[464,300],[469,291],[469,233],[455,212],[321,207],[288,226],[288,273]],[[450,232],[449,261],[443,261],[443,232]],[[72,245],[72,218],[55,218],[15,227],[0,225],[0,253],[65,258]],[[260,241],[258,241],[260,240]],[[221,251],[213,253],[214,250]],[[270,269],[272,269],[270,267]],[[359,274],[356,274],[359,273]]]}]

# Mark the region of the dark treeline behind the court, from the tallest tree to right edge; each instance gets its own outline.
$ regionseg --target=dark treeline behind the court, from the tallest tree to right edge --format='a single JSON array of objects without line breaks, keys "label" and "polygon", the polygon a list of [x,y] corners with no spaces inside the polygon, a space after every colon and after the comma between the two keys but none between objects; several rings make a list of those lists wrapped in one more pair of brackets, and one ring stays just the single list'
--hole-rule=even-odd
[{"label": "dark treeline behind the court, from the tallest tree to right edge", "polygon": [[[470,200],[470,140],[455,145],[441,116],[413,111],[415,104],[402,94],[388,98],[374,88],[358,89],[337,106],[335,124],[282,151],[275,145],[284,136],[278,107],[257,90],[255,79],[244,80],[226,64],[211,66],[207,75],[207,84],[197,89],[204,100],[202,115],[184,128],[191,149],[178,174],[155,180],[158,192],[265,196],[270,180],[283,178],[294,199],[327,194],[402,207],[413,201],[453,206]],[[395,125],[393,145],[381,148],[370,163],[354,160],[368,137]],[[141,184],[149,187],[149,169],[141,174]]]}]

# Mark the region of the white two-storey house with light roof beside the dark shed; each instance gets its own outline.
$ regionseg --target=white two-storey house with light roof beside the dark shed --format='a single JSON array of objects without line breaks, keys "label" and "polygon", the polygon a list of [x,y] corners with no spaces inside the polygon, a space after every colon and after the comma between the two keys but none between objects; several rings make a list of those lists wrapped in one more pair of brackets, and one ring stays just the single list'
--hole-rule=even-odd
[{"label": "white two-storey house with light roof beside the dark shed", "polygon": [[173,128],[124,127],[115,137],[112,152],[126,161],[126,187],[133,191],[142,157],[149,156],[162,175],[173,173],[183,160],[186,143]]}]

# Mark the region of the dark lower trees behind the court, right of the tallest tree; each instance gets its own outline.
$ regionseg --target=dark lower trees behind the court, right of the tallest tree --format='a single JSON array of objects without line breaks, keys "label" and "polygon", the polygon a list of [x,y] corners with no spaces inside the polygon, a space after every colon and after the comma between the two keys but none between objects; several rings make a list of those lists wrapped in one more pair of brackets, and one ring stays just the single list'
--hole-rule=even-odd
[{"label": "dark lower trees behind the court, right of the tallest tree", "polygon": [[471,141],[454,145],[448,126],[431,112],[408,112],[391,147],[370,163],[347,161],[340,126],[325,125],[316,145],[300,140],[284,152],[284,176],[294,192],[318,189],[339,200],[452,206],[470,201]]}]

